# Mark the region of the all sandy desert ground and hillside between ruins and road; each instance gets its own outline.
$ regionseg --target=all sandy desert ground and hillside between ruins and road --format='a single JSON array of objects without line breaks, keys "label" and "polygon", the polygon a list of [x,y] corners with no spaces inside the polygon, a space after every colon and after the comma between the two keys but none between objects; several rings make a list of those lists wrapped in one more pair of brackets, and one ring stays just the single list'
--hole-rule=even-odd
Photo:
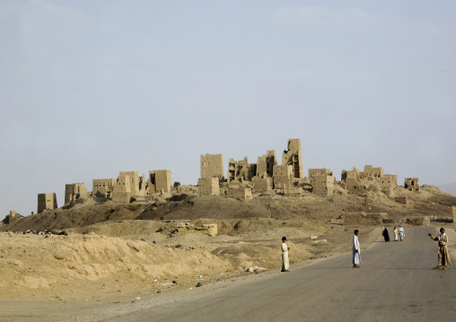
[{"label": "all sandy desert ground and hillside between ruins and road", "polygon": [[[398,187],[395,194],[407,196],[413,205],[406,207],[378,191],[236,200],[199,196],[190,189],[131,204],[91,197],[23,217],[0,227],[0,317],[40,320],[46,309],[60,309],[47,319],[77,320],[71,317],[84,308],[189,296],[276,274],[283,236],[291,246],[291,269],[351,251],[355,228],[361,231],[362,248],[381,236],[382,225],[344,225],[346,212],[388,213],[391,239],[392,227],[406,216],[433,215],[430,232],[445,227],[454,254],[454,223],[443,219],[452,216],[456,196],[436,187],[422,187],[419,193]],[[217,234],[178,233],[182,222],[195,227],[216,223]]]}]

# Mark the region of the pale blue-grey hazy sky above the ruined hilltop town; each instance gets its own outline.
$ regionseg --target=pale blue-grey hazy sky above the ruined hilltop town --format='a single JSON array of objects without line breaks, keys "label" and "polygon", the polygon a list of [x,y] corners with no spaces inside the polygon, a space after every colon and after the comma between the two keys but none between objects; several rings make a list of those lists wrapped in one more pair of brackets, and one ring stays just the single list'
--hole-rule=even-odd
[{"label": "pale blue-grey hazy sky above the ruined hilltop town", "polygon": [[200,154],[456,181],[454,1],[0,0],[0,220]]}]

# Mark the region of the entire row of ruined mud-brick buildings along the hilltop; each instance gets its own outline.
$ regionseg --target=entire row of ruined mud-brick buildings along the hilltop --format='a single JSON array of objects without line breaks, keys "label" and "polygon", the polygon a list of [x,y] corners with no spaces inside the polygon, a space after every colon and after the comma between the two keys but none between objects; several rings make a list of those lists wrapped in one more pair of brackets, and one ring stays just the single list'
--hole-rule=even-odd
[{"label": "entire row of ruined mud-brick buildings along the hilltop", "polygon": [[[309,169],[308,177],[303,176],[303,157],[300,139],[289,139],[287,150],[282,154],[282,164],[278,164],[276,151],[258,158],[257,163],[249,163],[247,157],[241,161],[230,159],[228,172],[224,174],[222,154],[201,155],[201,175],[197,189],[200,195],[228,196],[250,199],[254,193],[275,190],[285,196],[300,196],[304,191],[318,196],[332,196],[338,183],[329,169]],[[387,196],[398,186],[397,175],[384,174],[382,168],[366,165],[364,171],[343,170],[340,184],[349,192],[377,187]],[[83,183],[66,184],[65,204],[74,203],[88,196],[103,196],[116,203],[147,200],[157,193],[171,193],[173,187],[170,170],[151,170],[148,178],[140,177],[137,171],[120,172],[118,178],[93,179],[92,192]],[[418,191],[418,179],[406,178],[404,187]],[[38,195],[38,213],[57,208],[55,193]]]}]

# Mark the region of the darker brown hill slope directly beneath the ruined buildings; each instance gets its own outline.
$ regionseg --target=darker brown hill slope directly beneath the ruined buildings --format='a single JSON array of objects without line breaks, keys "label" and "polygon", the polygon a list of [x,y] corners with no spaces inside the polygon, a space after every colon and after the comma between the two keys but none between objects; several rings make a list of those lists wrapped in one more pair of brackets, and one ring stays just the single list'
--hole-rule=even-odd
[{"label": "darker brown hill slope directly beneath the ruined buildings", "polygon": [[[423,187],[420,193],[411,193],[397,187],[395,196],[407,196],[412,206],[400,204],[381,192],[364,191],[359,195],[346,192],[332,197],[255,196],[241,201],[223,196],[168,195],[156,196],[150,202],[113,204],[102,198],[90,198],[83,203],[27,217],[0,227],[0,231],[63,230],[89,226],[98,222],[118,220],[187,221],[199,218],[228,220],[242,218],[315,219],[326,222],[345,212],[388,213],[398,222],[406,215],[452,215],[456,196],[441,192],[438,188]],[[226,231],[222,231],[226,232]]]}]

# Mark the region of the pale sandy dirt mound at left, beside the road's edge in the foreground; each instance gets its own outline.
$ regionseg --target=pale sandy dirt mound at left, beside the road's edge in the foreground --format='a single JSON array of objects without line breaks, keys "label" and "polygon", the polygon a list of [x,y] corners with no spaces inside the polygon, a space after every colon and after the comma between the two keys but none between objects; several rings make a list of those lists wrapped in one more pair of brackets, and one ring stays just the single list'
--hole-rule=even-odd
[{"label": "pale sandy dirt mound at left, beside the road's edge in the foreground", "polygon": [[205,250],[96,234],[45,238],[2,233],[0,239],[0,267],[8,276],[0,280],[1,300],[156,292],[172,281],[189,283],[189,272],[213,274],[232,268]]}]

